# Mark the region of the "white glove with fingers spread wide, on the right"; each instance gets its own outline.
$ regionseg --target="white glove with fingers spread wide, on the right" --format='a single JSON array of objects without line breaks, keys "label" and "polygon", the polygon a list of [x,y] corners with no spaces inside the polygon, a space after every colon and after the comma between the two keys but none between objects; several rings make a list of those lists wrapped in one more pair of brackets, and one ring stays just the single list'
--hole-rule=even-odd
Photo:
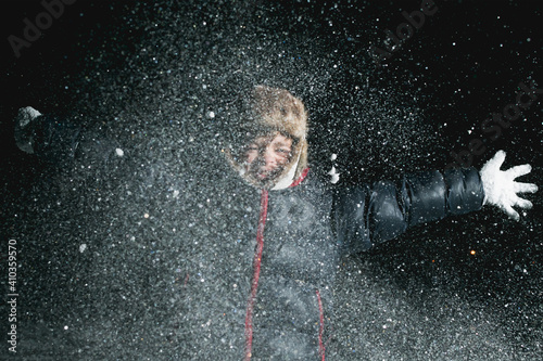
[{"label": "white glove with fingers spread wide, on the right", "polygon": [[532,203],[520,198],[517,193],[534,193],[538,185],[532,183],[515,182],[515,178],[529,173],[532,167],[529,164],[516,166],[505,171],[500,170],[505,160],[505,152],[498,151],[492,159],[482,166],[482,186],[484,189],[483,205],[491,204],[502,208],[510,218],[519,220],[520,216],[513,209],[513,206],[520,208],[531,208]]}]

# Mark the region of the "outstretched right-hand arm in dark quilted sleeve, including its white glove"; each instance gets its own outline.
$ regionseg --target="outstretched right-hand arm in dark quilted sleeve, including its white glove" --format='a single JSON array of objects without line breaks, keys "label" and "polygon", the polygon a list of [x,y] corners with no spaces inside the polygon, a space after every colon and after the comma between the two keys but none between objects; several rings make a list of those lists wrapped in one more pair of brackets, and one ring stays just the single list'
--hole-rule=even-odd
[{"label": "outstretched right-hand arm in dark quilted sleeve, including its white glove", "polygon": [[481,171],[456,168],[405,175],[400,183],[378,181],[344,188],[337,192],[332,224],[338,243],[345,252],[361,252],[392,240],[407,228],[447,216],[496,205],[518,219],[513,206],[530,208],[517,193],[535,192],[534,184],[514,179],[530,172],[529,165],[500,170],[505,158],[497,152]]}]

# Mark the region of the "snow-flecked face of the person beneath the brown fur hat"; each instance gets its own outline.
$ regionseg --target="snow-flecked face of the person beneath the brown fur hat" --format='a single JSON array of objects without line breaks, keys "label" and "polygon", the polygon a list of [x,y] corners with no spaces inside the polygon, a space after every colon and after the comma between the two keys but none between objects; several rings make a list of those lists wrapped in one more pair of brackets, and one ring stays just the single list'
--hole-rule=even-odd
[{"label": "snow-flecked face of the person beneath the brown fur hat", "polygon": [[292,140],[276,132],[255,138],[245,147],[245,171],[257,183],[269,184],[292,157]]}]

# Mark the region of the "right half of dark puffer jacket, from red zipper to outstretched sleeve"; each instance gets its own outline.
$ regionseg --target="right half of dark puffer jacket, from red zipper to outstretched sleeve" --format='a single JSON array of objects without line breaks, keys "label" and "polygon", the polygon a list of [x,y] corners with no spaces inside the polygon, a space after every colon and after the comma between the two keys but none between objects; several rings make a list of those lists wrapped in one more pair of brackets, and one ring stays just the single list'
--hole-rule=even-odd
[{"label": "right half of dark puffer jacket, from red zipper to outstretched sleeve", "polygon": [[409,227],[478,210],[483,195],[473,168],[407,175],[400,184],[378,181],[350,188],[324,184],[310,172],[293,188],[263,191],[267,219],[260,224],[262,257],[256,246],[253,262],[253,288],[255,269],[261,271],[257,291],[252,291],[251,353],[258,359],[324,359],[340,257],[367,250]]}]

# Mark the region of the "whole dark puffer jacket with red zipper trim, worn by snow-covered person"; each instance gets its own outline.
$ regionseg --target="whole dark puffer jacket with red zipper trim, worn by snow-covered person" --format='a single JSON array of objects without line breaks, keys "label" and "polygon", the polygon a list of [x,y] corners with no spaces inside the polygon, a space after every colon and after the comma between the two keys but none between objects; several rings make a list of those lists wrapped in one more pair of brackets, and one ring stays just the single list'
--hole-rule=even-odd
[{"label": "whole dark puffer jacket with red zipper trim, worn by snow-covered person", "polygon": [[[50,138],[49,132],[41,137]],[[73,149],[79,144],[75,131],[63,139]],[[478,210],[484,196],[473,168],[356,186],[326,183],[306,170],[285,190],[247,189],[241,181],[239,188],[232,201],[248,197],[243,202],[252,204],[254,218],[231,219],[239,240],[226,240],[230,248],[211,260],[212,268],[230,270],[232,279],[215,283],[216,296],[199,295],[195,278],[187,282],[186,307],[179,311],[187,335],[184,358],[202,359],[216,348],[224,360],[324,360],[341,256],[367,250],[409,227]]]}]

